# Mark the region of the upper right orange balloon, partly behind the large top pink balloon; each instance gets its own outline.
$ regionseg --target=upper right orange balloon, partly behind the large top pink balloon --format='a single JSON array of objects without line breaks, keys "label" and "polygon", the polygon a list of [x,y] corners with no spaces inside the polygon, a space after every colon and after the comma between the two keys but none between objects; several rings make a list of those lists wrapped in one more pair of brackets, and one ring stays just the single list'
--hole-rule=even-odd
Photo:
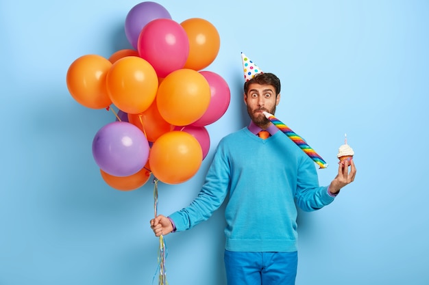
[{"label": "upper right orange balloon, partly behind the large top pink balloon", "polygon": [[180,23],[189,38],[189,55],[184,68],[201,70],[217,57],[221,38],[217,29],[202,18],[189,18]]}]

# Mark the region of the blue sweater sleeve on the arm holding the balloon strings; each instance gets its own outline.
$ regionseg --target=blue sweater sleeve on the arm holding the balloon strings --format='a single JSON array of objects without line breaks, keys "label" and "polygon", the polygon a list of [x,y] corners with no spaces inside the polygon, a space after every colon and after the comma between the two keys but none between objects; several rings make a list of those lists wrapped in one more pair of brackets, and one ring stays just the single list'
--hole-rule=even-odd
[{"label": "blue sweater sleeve on the arm holding the balloon strings", "polygon": [[230,167],[228,159],[219,146],[197,198],[186,208],[169,216],[174,221],[177,232],[188,230],[205,221],[225,200],[230,180]]}]

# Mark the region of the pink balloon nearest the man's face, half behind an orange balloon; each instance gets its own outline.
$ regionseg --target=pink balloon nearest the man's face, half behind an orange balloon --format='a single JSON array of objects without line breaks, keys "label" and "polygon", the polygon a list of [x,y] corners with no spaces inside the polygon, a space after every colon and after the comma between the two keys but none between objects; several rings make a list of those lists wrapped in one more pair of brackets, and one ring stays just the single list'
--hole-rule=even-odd
[{"label": "pink balloon nearest the man's face, half behind an orange balloon", "polygon": [[217,73],[211,71],[200,71],[210,85],[210,104],[201,118],[193,122],[193,126],[207,126],[216,122],[228,109],[231,100],[230,87],[228,83]]}]

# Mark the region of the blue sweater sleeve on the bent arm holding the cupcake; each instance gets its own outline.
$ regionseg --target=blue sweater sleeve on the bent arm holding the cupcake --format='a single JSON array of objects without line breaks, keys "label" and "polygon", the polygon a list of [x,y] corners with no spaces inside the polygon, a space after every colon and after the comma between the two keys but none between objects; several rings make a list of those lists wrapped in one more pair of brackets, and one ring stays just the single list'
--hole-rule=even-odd
[{"label": "blue sweater sleeve on the bent arm holding the cupcake", "polygon": [[315,163],[311,159],[303,158],[299,163],[295,200],[299,208],[308,212],[319,210],[334,201],[334,196],[328,193],[328,186],[319,186]]}]

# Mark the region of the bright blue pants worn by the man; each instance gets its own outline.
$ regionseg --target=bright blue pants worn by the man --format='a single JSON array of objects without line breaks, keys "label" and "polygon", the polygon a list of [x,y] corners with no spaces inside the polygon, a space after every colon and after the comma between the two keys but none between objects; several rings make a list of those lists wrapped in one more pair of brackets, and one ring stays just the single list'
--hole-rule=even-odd
[{"label": "bright blue pants worn by the man", "polygon": [[228,285],[294,285],[297,252],[230,252],[225,250]]}]

